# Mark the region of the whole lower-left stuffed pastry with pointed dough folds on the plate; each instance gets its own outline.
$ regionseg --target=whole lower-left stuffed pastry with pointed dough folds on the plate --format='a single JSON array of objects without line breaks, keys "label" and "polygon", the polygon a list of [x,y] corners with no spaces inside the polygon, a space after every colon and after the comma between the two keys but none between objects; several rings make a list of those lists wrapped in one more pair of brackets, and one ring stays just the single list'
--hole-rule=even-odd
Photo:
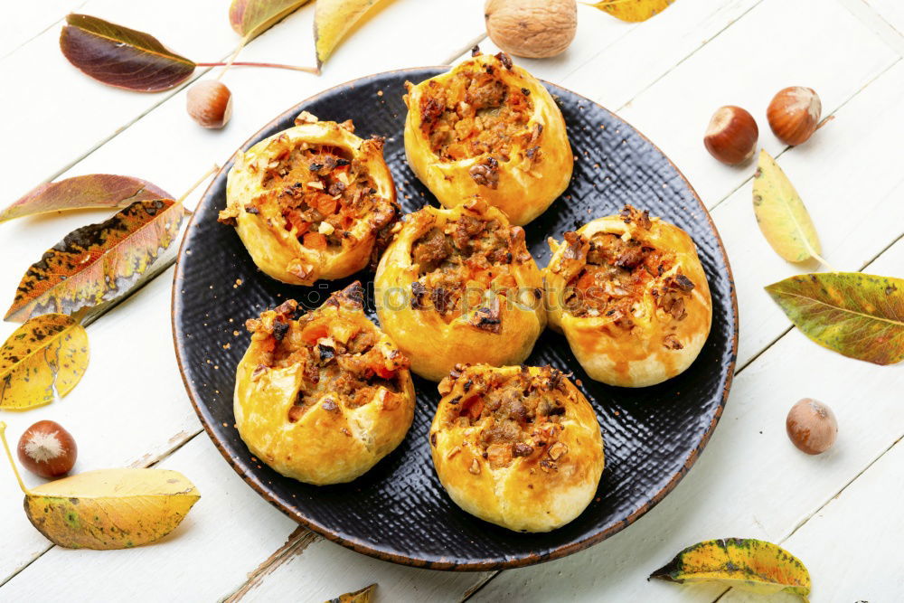
[{"label": "whole lower-left stuffed pastry with pointed dough folds on the plate", "polygon": [[355,282],[294,318],[248,321],[235,424],[251,454],[308,484],[350,482],[399,446],[414,416],[408,359],[364,316]]}]

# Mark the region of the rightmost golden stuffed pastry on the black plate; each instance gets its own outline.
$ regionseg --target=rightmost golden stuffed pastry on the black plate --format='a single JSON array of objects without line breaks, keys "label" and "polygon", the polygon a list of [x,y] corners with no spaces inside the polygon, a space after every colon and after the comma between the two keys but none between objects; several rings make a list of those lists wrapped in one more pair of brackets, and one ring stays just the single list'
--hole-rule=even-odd
[{"label": "rightmost golden stuffed pastry on the black plate", "polygon": [[591,378],[643,387],[691,365],[710,333],[712,301],[686,232],[626,206],[550,246],[550,325]]}]

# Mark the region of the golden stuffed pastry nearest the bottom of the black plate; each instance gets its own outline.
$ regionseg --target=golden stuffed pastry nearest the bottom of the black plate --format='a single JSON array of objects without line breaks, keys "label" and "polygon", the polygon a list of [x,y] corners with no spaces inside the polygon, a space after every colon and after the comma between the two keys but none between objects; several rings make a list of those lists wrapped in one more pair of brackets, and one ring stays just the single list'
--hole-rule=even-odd
[{"label": "golden stuffed pastry nearest the bottom of the black plate", "polygon": [[458,366],[439,393],[430,452],[458,506],[520,532],[554,530],[587,508],[603,472],[603,438],[562,372]]}]

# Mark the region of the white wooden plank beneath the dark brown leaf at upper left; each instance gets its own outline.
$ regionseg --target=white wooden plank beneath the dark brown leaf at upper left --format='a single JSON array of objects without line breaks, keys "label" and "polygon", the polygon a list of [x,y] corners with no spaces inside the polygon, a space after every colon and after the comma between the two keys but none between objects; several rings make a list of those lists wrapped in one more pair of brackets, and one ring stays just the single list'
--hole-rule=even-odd
[{"label": "white wooden plank beneath the dark brown leaf at upper left", "polygon": [[[153,33],[194,61],[220,61],[239,41],[220,0],[89,0],[80,11]],[[203,35],[198,34],[199,29]],[[15,156],[22,158],[0,165],[5,183],[0,203],[4,205],[58,174],[173,94],[119,90],[91,80],[62,56],[59,37],[60,28],[51,27],[0,61],[0,80],[27,84],[10,86],[0,95],[0,112],[16,116],[3,120],[0,137],[6,149],[15,149]],[[36,72],[41,77],[34,77]],[[201,74],[202,70],[195,72],[195,76]],[[315,80],[314,76],[296,75]]]}]

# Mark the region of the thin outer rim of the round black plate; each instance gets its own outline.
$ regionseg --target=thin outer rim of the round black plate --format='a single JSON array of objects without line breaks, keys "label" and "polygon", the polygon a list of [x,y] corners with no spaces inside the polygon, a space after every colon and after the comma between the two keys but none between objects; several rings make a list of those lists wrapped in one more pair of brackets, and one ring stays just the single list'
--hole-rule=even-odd
[{"label": "thin outer rim of the round black plate", "polygon": [[[409,68],[404,68],[404,69],[379,71],[377,73],[371,73],[371,74],[364,75],[359,78],[354,78],[353,80],[348,80],[343,83],[336,84],[334,86],[331,86],[330,88],[321,90],[320,92],[317,92],[316,94],[311,95],[311,96],[307,97],[306,99],[303,99],[303,100],[297,102],[291,108],[288,108],[287,110],[283,111],[278,116],[276,116],[275,118],[269,120],[267,124],[265,124],[263,127],[260,127],[254,134],[252,134],[250,137],[248,137],[245,140],[245,142],[243,142],[238,148],[236,148],[235,151],[232,152],[229,159],[223,163],[223,165],[221,166],[221,168],[219,170],[217,170],[216,174],[213,175],[213,178],[212,178],[210,184],[208,184],[207,187],[204,189],[204,193],[202,193],[201,198],[198,201],[198,205],[200,206],[201,203],[203,203],[205,200],[207,200],[207,198],[209,197],[209,195],[211,193],[211,189],[212,189],[213,185],[215,183],[217,183],[221,177],[225,177],[228,174],[227,168],[231,168],[231,164],[233,163],[236,153],[238,153],[241,149],[243,149],[247,146],[250,146],[251,144],[254,144],[254,143],[258,142],[259,140],[261,140],[262,133],[264,131],[270,129],[271,127],[276,126],[278,124],[278,122],[281,122],[285,118],[291,117],[293,114],[297,114],[297,112],[299,110],[301,110],[300,107],[302,107],[303,105],[308,105],[308,104],[314,102],[316,99],[319,99],[327,94],[333,93],[334,91],[342,90],[342,89],[351,89],[354,87],[356,82],[359,82],[361,80],[372,80],[372,79],[380,78],[382,76],[391,76],[391,75],[398,75],[401,73],[410,73],[410,72],[424,71],[424,70],[448,71],[450,68],[451,67],[449,65],[427,65],[427,66],[422,66],[422,67],[409,67]],[[538,78],[538,80],[540,80],[540,79]],[[373,548],[372,546],[370,546],[369,544],[367,544],[365,542],[360,542],[360,541],[353,540],[351,538],[346,538],[344,536],[331,532],[324,526],[316,523],[315,521],[311,520],[310,518],[306,517],[305,515],[299,513],[295,508],[285,504],[278,497],[270,495],[266,491],[266,489],[259,483],[259,480],[256,478],[256,476],[252,476],[249,473],[246,473],[239,466],[239,464],[236,462],[236,460],[231,456],[229,451],[225,448],[223,443],[220,441],[220,438],[218,438],[216,436],[216,434],[214,433],[214,431],[212,429],[211,421],[209,421],[204,416],[204,410],[202,410],[202,407],[203,407],[203,409],[206,409],[206,406],[204,406],[200,402],[200,400],[196,400],[196,398],[195,398],[192,386],[189,383],[188,376],[185,374],[185,371],[184,371],[184,362],[183,362],[182,351],[181,351],[182,343],[180,341],[178,330],[176,327],[176,315],[177,315],[176,291],[179,288],[181,288],[181,283],[184,280],[184,275],[183,275],[183,270],[182,270],[182,260],[184,258],[185,244],[186,244],[186,241],[188,240],[188,233],[189,233],[189,231],[191,231],[191,229],[194,225],[194,219],[198,215],[197,207],[196,207],[195,211],[192,212],[192,215],[189,216],[189,220],[185,226],[185,233],[183,235],[182,240],[179,242],[179,250],[178,250],[178,253],[176,254],[175,269],[174,269],[174,273],[173,273],[173,287],[170,292],[170,325],[171,325],[171,331],[172,331],[172,336],[173,336],[173,346],[174,346],[174,350],[175,350],[176,364],[179,367],[179,374],[182,375],[182,381],[184,384],[184,388],[185,388],[186,393],[188,394],[189,400],[192,402],[192,407],[194,409],[194,412],[198,416],[198,419],[201,421],[201,424],[204,428],[204,432],[207,434],[207,437],[210,438],[210,440],[212,441],[214,448],[217,448],[217,450],[220,451],[221,456],[226,459],[226,462],[229,464],[229,466],[232,467],[232,470],[235,471],[247,485],[250,485],[250,487],[258,495],[260,495],[269,504],[272,504],[273,506],[278,508],[279,511],[286,514],[289,518],[291,518],[293,521],[297,522],[299,525],[302,525],[306,529],[323,536],[325,539],[327,539],[331,542],[336,542],[338,544],[341,544],[342,546],[344,546],[347,549],[351,549],[353,551],[363,553],[364,555],[368,555],[369,557],[373,557],[373,558],[379,559],[381,561],[391,561],[393,563],[398,563],[400,565],[407,565],[410,567],[416,567],[416,568],[422,568],[422,569],[428,569],[428,570],[452,570],[452,571],[507,570],[507,569],[513,569],[513,568],[522,568],[522,567],[526,567],[529,565],[534,565],[536,563],[542,563],[545,561],[553,561],[556,559],[561,559],[563,557],[567,557],[568,555],[570,555],[572,553],[575,553],[578,551],[583,551],[583,550],[588,549],[589,547],[593,546],[594,544],[603,542],[607,538],[617,534],[617,532],[621,532],[627,526],[631,525],[632,523],[635,523],[637,521],[637,519],[639,519],[645,513],[647,513],[651,509],[653,509],[653,507],[656,504],[659,504],[660,502],[662,502],[662,500],[665,498],[665,496],[669,495],[674,490],[675,486],[677,486],[681,482],[681,480],[684,478],[684,476],[687,475],[688,471],[690,471],[691,467],[697,462],[697,459],[700,457],[703,449],[706,448],[706,445],[709,443],[710,438],[712,436],[712,432],[715,430],[716,425],[719,423],[719,419],[722,416],[722,412],[725,410],[725,404],[728,401],[729,392],[731,389],[731,383],[734,380],[735,366],[736,366],[736,363],[738,360],[738,334],[739,334],[738,295],[737,295],[737,287],[735,287],[734,275],[731,271],[731,264],[730,264],[728,252],[725,250],[725,245],[722,242],[720,232],[716,228],[715,222],[712,221],[712,216],[710,215],[709,210],[707,209],[706,205],[703,204],[703,201],[702,201],[700,195],[693,188],[693,185],[690,183],[690,181],[688,181],[687,177],[678,168],[678,166],[674,164],[672,159],[668,155],[665,155],[665,153],[663,152],[662,149],[659,148],[659,146],[656,146],[652,140],[650,140],[648,137],[646,137],[646,135],[643,132],[641,132],[640,130],[638,130],[636,127],[632,126],[628,121],[626,121],[626,119],[619,116],[616,112],[607,109],[600,103],[598,103],[594,100],[588,99],[587,97],[585,97],[581,94],[578,94],[577,92],[574,92],[573,90],[567,89],[564,86],[561,86],[560,84],[556,84],[556,83],[553,83],[553,82],[550,82],[547,80],[540,80],[540,81],[544,85],[549,84],[555,88],[569,92],[570,94],[574,95],[577,99],[579,99],[579,101],[583,101],[583,102],[586,102],[589,104],[596,105],[599,108],[603,108],[614,118],[617,118],[622,123],[624,123],[627,127],[630,127],[634,132],[636,132],[636,134],[638,136],[640,136],[641,138],[643,138],[643,140],[647,144],[652,146],[660,155],[662,155],[665,158],[665,160],[669,163],[669,165],[672,165],[675,173],[681,177],[681,180],[684,183],[684,185],[692,193],[693,199],[700,206],[703,216],[709,222],[711,231],[715,235],[716,242],[718,243],[721,257],[725,261],[725,269],[726,269],[726,273],[727,273],[726,276],[729,281],[730,294],[731,294],[730,295],[730,297],[731,297],[731,314],[732,314],[732,319],[733,319],[732,320],[733,327],[731,328],[731,338],[730,338],[731,339],[731,358],[730,358],[729,366],[727,367],[729,369],[729,371],[728,371],[728,376],[725,381],[725,385],[722,388],[722,396],[721,396],[719,406],[716,408],[716,410],[713,414],[713,417],[710,421],[710,425],[706,429],[706,431],[703,433],[700,442],[697,444],[696,447],[694,447],[691,450],[690,454],[684,458],[684,462],[683,462],[681,469],[679,469],[678,472],[675,473],[672,476],[672,478],[668,481],[668,483],[666,483],[658,492],[656,492],[650,498],[649,501],[647,501],[645,504],[638,507],[634,513],[631,513],[625,519],[608,527],[607,529],[590,534],[589,536],[587,536],[586,538],[583,538],[579,542],[572,542],[570,544],[561,545],[560,547],[558,547],[546,554],[540,555],[537,553],[530,553],[530,554],[523,555],[523,556],[520,556],[515,559],[509,559],[506,561],[472,561],[472,562],[467,562],[467,563],[456,563],[453,561],[428,561],[428,560],[417,559],[414,557],[410,557],[410,556],[406,556],[406,555],[402,555],[402,554],[398,554],[398,553],[381,551],[379,549]],[[181,306],[179,309],[181,310]]]}]

